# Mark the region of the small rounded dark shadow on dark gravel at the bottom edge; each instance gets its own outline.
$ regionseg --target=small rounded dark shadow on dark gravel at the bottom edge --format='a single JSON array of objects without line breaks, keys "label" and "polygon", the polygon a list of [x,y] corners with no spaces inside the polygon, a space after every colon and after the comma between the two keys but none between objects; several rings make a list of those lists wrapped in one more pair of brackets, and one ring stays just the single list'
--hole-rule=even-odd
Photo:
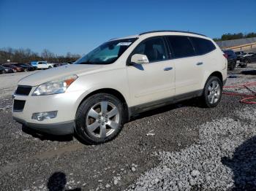
[{"label": "small rounded dark shadow on dark gravel at the bottom edge", "polygon": [[[55,172],[48,179],[47,187],[49,191],[64,191],[66,184],[67,184],[66,174],[64,174],[63,172]],[[81,190],[80,188],[75,188],[72,190],[65,190],[65,191],[80,191],[80,190]]]}]

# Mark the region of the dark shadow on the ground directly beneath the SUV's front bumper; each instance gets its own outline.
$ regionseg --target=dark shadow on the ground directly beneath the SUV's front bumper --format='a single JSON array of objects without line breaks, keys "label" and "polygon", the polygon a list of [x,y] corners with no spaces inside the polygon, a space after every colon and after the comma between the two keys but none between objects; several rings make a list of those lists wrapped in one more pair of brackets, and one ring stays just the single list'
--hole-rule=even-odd
[{"label": "dark shadow on the ground directly beneath the SUV's front bumper", "polygon": [[29,134],[33,136],[34,138],[40,139],[41,141],[72,141],[73,136],[72,135],[67,135],[67,136],[55,136],[55,135],[50,135],[47,133],[42,133],[38,132],[37,130],[28,128],[26,126],[22,126],[22,131],[26,134]]}]

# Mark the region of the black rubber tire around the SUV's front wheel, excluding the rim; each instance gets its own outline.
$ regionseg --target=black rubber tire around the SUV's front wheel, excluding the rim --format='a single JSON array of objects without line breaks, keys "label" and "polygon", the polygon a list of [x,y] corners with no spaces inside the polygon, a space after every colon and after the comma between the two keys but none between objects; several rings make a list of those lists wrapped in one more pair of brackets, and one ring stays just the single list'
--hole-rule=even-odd
[{"label": "black rubber tire around the SUV's front wheel, excluding the rim", "polygon": [[[111,102],[117,107],[118,112],[120,114],[120,122],[116,131],[113,132],[110,136],[107,136],[103,139],[92,136],[91,133],[89,133],[86,128],[86,115],[88,114],[89,109],[91,109],[91,106],[94,106],[100,101]],[[124,109],[121,101],[119,101],[118,98],[116,98],[113,95],[110,95],[107,93],[97,93],[95,95],[92,95],[89,98],[86,98],[86,100],[83,101],[83,103],[80,104],[80,106],[78,107],[78,111],[75,119],[75,132],[83,141],[86,141],[86,143],[88,144],[102,144],[114,139],[118,135],[118,133],[122,128],[123,122],[124,122]]]}]

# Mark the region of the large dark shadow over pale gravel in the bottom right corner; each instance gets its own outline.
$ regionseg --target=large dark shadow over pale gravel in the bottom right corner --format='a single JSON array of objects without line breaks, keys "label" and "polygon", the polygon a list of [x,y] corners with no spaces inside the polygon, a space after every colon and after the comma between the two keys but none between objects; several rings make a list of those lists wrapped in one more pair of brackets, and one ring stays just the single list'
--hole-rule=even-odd
[{"label": "large dark shadow over pale gravel in the bottom right corner", "polygon": [[256,190],[256,136],[236,148],[232,158],[222,157],[222,164],[233,171],[233,191]]}]

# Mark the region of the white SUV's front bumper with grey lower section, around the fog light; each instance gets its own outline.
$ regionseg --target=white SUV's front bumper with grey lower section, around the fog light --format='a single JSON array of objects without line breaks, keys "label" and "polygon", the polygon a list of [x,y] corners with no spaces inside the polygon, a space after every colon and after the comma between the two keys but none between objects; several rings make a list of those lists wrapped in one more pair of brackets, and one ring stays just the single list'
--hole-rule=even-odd
[{"label": "white SUV's front bumper with grey lower section, around the fog light", "polygon": [[[26,127],[53,135],[67,135],[74,132],[75,114],[83,98],[83,90],[59,93],[55,95],[32,96],[36,87],[32,87],[29,95],[14,95],[15,101],[23,102],[23,109],[12,107],[13,119]],[[17,103],[17,102],[16,102]],[[32,119],[37,112],[58,111],[56,117],[42,121]]]}]

